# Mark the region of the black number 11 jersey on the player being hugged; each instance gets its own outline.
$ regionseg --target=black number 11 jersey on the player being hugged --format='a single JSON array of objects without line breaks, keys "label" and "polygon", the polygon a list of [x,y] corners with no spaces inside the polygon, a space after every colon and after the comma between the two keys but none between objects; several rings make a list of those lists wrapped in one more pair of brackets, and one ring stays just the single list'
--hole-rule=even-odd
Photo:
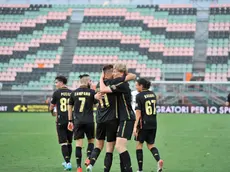
[{"label": "black number 11 jersey on the player being hugged", "polygon": [[[124,77],[116,79],[105,80],[104,83],[107,86],[118,84],[124,81]],[[97,85],[97,90],[100,90]],[[118,119],[118,102],[116,93],[107,93],[99,101],[97,110],[97,123],[107,122],[114,119]]]}]

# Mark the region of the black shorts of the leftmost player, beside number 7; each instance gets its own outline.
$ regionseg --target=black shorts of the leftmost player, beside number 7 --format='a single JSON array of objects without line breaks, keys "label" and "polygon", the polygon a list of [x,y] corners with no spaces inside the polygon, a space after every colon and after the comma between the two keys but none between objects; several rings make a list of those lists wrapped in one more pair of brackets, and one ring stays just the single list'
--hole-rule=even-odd
[{"label": "black shorts of the leftmost player, beside number 7", "polygon": [[69,131],[67,127],[68,124],[63,124],[63,125],[56,124],[59,144],[72,143],[73,132]]}]

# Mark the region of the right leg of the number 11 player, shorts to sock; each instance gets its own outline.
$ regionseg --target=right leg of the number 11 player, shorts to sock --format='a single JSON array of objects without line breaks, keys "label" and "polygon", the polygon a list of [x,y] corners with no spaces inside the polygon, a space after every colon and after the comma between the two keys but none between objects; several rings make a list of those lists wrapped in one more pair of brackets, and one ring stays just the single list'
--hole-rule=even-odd
[{"label": "right leg of the number 11 player, shorts to sock", "polygon": [[106,123],[106,155],[104,159],[104,172],[109,172],[113,163],[113,151],[116,144],[118,121],[113,120]]}]

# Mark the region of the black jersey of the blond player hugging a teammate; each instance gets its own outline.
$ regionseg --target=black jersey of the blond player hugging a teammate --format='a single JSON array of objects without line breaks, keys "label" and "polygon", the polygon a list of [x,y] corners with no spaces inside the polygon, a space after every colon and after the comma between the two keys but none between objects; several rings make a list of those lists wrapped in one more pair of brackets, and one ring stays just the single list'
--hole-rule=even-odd
[{"label": "black jersey of the blond player hugging a teammate", "polygon": [[132,109],[132,94],[127,82],[120,82],[110,86],[113,93],[117,93],[118,114],[120,121],[135,120]]}]

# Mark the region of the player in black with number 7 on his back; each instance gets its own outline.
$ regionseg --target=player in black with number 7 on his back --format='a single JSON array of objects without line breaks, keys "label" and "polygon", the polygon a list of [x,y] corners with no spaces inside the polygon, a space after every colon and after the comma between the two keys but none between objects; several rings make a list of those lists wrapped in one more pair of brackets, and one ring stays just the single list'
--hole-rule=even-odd
[{"label": "player in black with number 7 on his back", "polygon": [[[82,172],[82,146],[84,135],[88,139],[87,156],[91,155],[94,148],[94,116],[93,106],[96,103],[95,91],[90,89],[90,77],[85,74],[80,76],[80,87],[73,91],[69,100],[69,130],[74,131],[74,140],[76,140],[76,162],[77,172]],[[74,112],[72,115],[72,110]],[[73,119],[72,119],[73,117]],[[73,126],[74,125],[74,126]]]}]

